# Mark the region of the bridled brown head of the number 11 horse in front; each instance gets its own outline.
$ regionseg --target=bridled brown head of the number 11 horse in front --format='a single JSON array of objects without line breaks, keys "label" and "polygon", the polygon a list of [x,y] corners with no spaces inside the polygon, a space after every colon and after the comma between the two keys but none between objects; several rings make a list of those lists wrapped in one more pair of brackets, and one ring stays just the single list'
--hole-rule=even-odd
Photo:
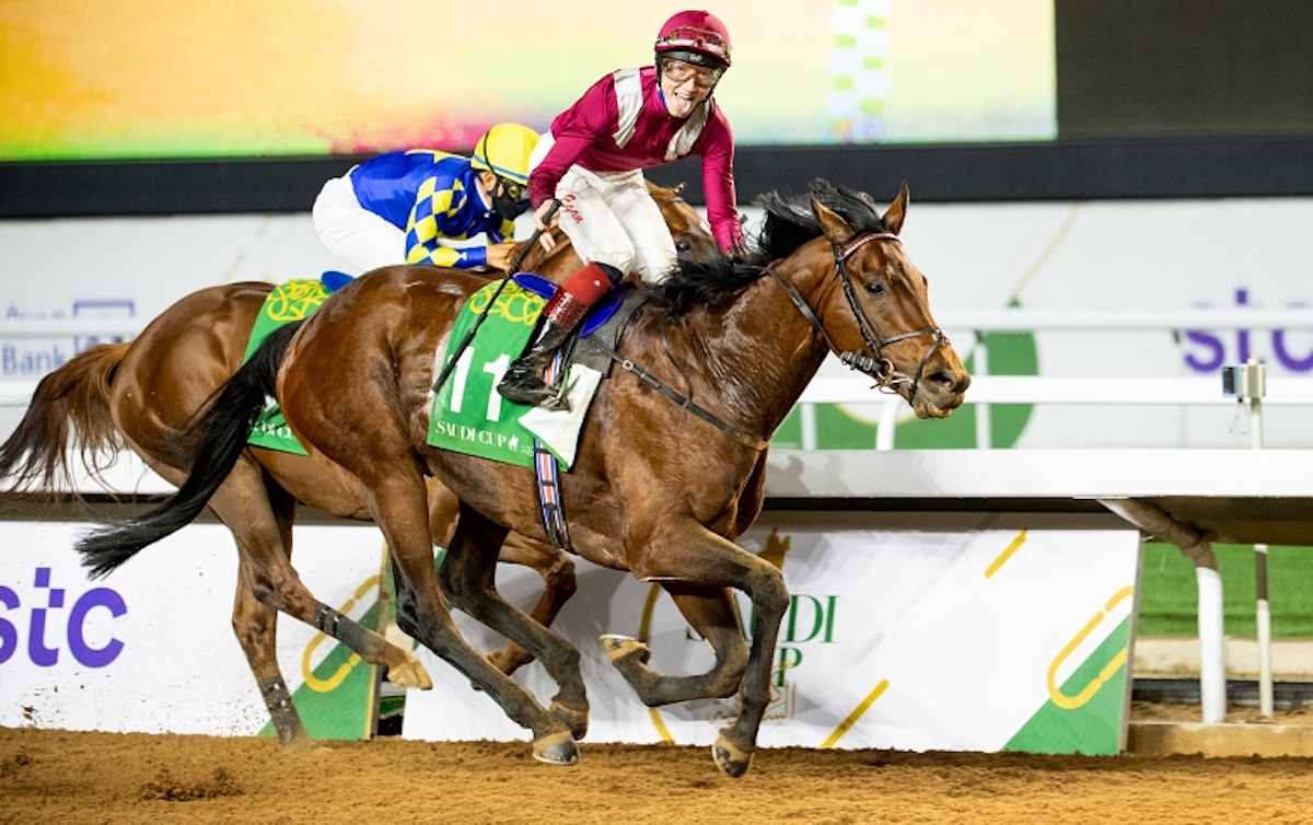
[{"label": "bridled brown head of the number 11 horse in front", "polygon": [[928,281],[898,238],[907,184],[882,215],[865,193],[826,181],[817,181],[810,202],[834,256],[836,288],[818,307],[832,348],[882,390],[906,398],[919,418],[947,416],[962,403],[970,376],[935,323]]}]

